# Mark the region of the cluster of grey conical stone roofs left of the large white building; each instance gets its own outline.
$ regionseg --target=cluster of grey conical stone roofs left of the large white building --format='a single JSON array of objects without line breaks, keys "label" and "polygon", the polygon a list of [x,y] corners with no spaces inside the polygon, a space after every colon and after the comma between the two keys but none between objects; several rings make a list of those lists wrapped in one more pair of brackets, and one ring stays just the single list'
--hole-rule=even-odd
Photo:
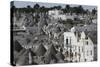
[{"label": "cluster of grey conical stone roofs left of the large white building", "polygon": [[36,50],[25,49],[15,40],[14,63],[16,65],[64,63],[64,55],[61,51],[57,51],[54,45],[50,45],[48,49],[43,44],[38,45]]}]

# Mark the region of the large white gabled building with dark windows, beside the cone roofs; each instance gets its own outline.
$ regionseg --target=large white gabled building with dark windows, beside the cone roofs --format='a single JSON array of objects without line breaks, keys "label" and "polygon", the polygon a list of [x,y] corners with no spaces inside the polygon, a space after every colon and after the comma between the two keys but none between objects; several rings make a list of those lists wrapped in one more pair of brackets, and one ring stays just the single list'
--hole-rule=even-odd
[{"label": "large white gabled building with dark windows, beside the cone roofs", "polygon": [[64,32],[65,60],[72,62],[93,61],[94,44],[85,32]]}]

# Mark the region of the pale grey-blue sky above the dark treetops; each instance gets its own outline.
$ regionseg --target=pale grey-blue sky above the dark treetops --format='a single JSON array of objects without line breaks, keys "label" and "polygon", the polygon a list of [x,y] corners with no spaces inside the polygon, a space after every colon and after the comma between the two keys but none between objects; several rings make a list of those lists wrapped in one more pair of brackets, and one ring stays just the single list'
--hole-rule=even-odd
[{"label": "pale grey-blue sky above the dark treetops", "polygon": [[[23,7],[27,7],[27,5],[30,5],[31,7],[33,7],[35,4],[39,4],[40,6],[45,6],[45,7],[53,7],[53,6],[61,6],[62,8],[65,7],[65,5],[70,5],[71,7],[76,7],[79,5],[76,4],[59,4],[59,3],[43,3],[43,2],[28,2],[28,1],[14,1],[14,5],[17,8],[23,8]],[[88,6],[88,5],[82,5],[82,7],[84,9],[88,9],[89,11],[91,11],[92,9],[97,9],[96,6]]]}]

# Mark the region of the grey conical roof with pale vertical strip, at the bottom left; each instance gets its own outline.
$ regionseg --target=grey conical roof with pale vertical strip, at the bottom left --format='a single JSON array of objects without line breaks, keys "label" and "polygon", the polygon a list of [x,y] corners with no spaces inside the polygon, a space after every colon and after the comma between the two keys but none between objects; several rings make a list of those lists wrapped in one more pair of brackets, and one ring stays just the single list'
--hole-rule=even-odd
[{"label": "grey conical roof with pale vertical strip, at the bottom left", "polygon": [[[30,56],[29,56],[29,53],[30,53]],[[18,60],[16,61],[16,64],[19,64],[19,65],[28,65],[28,64],[33,64],[33,56],[35,54],[30,50],[30,49],[27,49],[27,50],[22,50],[21,51],[21,55],[18,56]],[[30,61],[30,58],[31,57],[31,63],[29,63]]]}]

